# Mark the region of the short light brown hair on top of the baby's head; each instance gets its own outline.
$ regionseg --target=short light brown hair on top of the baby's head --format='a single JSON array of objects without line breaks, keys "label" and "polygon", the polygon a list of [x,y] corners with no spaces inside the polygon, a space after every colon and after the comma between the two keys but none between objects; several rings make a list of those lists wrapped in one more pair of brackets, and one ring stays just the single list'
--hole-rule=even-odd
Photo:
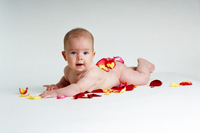
[{"label": "short light brown hair on top of the baby's head", "polygon": [[89,37],[92,40],[92,51],[94,51],[94,37],[88,30],[83,29],[83,28],[72,29],[65,35],[64,49],[66,48],[67,40],[69,38],[76,38],[76,37]]}]

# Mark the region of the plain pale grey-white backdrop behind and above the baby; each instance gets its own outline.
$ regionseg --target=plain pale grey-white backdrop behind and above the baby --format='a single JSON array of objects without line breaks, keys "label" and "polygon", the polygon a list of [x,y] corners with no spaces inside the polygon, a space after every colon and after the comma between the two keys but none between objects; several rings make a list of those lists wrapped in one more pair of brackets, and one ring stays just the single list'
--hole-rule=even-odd
[{"label": "plain pale grey-white backdrop behind and above the baby", "polygon": [[199,0],[0,0],[1,89],[56,83],[63,37],[76,27],[94,35],[94,62],[142,57],[155,72],[200,80]]}]

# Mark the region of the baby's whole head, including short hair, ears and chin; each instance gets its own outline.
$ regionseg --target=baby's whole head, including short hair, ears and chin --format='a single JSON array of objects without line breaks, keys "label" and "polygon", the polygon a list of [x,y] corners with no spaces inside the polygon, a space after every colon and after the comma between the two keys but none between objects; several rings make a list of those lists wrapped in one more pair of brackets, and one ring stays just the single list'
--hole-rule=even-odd
[{"label": "baby's whole head, including short hair, ears and chin", "polygon": [[76,73],[87,71],[92,66],[95,56],[92,34],[81,28],[69,31],[64,38],[62,55]]}]

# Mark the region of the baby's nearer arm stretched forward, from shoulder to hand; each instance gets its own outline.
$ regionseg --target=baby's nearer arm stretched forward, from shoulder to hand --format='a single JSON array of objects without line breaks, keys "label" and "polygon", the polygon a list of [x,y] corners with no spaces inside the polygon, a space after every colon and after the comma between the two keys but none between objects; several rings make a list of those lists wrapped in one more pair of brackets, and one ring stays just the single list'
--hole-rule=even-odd
[{"label": "baby's nearer arm stretched forward, from shoulder to hand", "polygon": [[97,80],[98,74],[90,71],[87,74],[85,74],[77,83],[70,84],[66,87],[57,90],[45,91],[40,96],[42,98],[55,98],[63,95],[71,97],[78,93],[85,92],[86,90],[91,88]]}]

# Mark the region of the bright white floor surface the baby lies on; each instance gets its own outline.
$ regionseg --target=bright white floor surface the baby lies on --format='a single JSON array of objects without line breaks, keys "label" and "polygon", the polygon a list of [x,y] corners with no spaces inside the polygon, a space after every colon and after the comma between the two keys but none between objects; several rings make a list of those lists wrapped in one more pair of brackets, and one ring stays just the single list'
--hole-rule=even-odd
[{"label": "bright white floor surface the baby lies on", "polygon": [[[155,73],[160,87],[138,86],[93,99],[27,100],[18,88],[0,93],[0,133],[199,133],[200,82],[176,73]],[[170,87],[190,80],[192,86]],[[44,88],[29,88],[36,96]]]}]

